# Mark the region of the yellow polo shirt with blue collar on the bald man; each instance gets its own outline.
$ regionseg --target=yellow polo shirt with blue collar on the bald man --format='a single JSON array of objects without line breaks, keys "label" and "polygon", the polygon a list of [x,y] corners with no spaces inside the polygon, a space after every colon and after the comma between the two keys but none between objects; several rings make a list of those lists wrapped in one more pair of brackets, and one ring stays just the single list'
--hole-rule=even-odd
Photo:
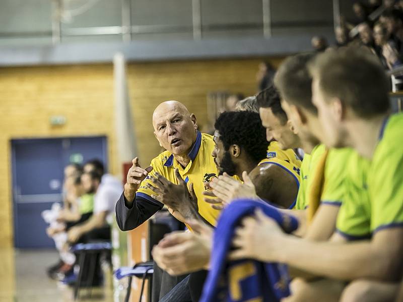
[{"label": "yellow polo shirt with blue collar on the bald man", "polygon": [[[178,168],[186,184],[189,182],[193,183],[194,193],[197,197],[198,211],[212,225],[216,225],[220,211],[213,209],[210,204],[205,202],[204,195],[201,193],[206,190],[205,182],[210,182],[218,174],[214,158],[211,156],[214,146],[215,144],[211,135],[202,134],[197,131],[196,142],[189,152],[190,162],[186,167],[183,168],[171,152],[164,151],[151,161],[153,171],[150,172],[154,176],[154,172],[158,171],[171,183],[178,184],[175,177],[175,169]],[[143,180],[136,195],[159,204],[158,201],[151,197],[154,192],[146,187],[147,183],[151,183],[149,177]]]}]

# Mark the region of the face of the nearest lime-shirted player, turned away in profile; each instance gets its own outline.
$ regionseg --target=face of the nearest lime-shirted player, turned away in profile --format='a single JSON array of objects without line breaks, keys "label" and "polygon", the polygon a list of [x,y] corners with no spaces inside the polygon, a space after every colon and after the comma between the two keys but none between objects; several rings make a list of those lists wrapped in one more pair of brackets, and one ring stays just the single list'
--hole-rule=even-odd
[{"label": "face of the nearest lime-shirted player, turned away in profile", "polygon": [[312,103],[318,109],[319,124],[322,127],[322,142],[328,147],[344,147],[343,143],[343,125],[342,125],[342,107],[339,100],[326,100],[323,94],[319,80],[316,76],[312,81]]}]

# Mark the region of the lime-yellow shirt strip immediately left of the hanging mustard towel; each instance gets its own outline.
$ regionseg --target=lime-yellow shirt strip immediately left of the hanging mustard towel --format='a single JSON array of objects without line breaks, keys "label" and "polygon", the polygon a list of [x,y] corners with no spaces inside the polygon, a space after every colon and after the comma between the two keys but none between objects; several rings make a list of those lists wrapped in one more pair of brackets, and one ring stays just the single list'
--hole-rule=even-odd
[{"label": "lime-yellow shirt strip immediately left of the hanging mustard towel", "polygon": [[294,207],[296,210],[305,210],[308,206],[306,195],[309,186],[309,175],[313,171],[317,161],[324,151],[325,146],[323,144],[319,144],[313,148],[311,154],[305,153],[304,155],[300,169],[300,186],[297,195],[297,202]]}]

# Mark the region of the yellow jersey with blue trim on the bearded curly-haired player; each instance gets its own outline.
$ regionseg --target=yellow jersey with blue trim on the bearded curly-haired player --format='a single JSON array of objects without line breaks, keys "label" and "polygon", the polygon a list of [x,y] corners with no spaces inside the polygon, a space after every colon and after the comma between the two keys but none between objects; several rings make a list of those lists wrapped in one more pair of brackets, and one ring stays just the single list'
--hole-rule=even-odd
[{"label": "yellow jersey with blue trim on the bearded curly-haired player", "polygon": [[267,157],[262,159],[258,165],[271,163],[280,166],[288,173],[290,173],[299,188],[300,186],[300,168],[301,168],[301,160],[295,154],[294,150],[287,149],[282,150],[279,147],[279,143],[273,141],[267,147]]}]

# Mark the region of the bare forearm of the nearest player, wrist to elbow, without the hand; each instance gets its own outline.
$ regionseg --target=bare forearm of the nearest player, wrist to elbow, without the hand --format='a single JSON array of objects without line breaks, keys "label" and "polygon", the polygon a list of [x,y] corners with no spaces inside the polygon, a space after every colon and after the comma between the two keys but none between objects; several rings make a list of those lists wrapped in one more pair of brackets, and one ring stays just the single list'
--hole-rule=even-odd
[{"label": "bare forearm of the nearest player, wrist to elbow, without the hand", "polygon": [[281,240],[278,261],[309,273],[340,280],[358,278],[388,279],[388,260],[371,247],[360,243],[314,243],[287,236]]}]

